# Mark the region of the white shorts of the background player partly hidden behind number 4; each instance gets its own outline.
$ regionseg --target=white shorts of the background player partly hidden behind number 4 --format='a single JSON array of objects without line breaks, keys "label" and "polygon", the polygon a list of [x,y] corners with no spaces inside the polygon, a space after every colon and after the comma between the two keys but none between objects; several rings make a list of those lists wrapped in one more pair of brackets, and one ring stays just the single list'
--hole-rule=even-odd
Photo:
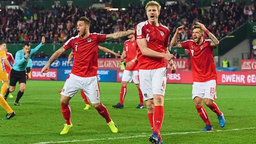
[{"label": "white shorts of the background player partly hidden behind number 4", "polygon": [[124,70],[123,76],[122,76],[122,81],[127,81],[127,82],[132,82],[135,84],[139,83],[139,72],[138,70]]}]

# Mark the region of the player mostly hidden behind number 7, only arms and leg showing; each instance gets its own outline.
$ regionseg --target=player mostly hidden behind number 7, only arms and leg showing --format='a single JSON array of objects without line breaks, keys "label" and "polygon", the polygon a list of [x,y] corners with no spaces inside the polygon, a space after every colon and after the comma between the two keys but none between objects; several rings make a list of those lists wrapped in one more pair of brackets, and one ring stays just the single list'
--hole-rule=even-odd
[{"label": "player mostly hidden behind number 7, only arms and leg showing", "polygon": [[[102,46],[98,46],[99,47],[99,50],[102,50],[106,53],[111,53],[113,55],[115,55],[116,57],[120,56],[119,53],[115,53],[114,51],[111,51],[110,49],[107,49],[106,47],[102,47]],[[71,59],[74,57],[74,54],[73,52],[71,51],[68,55],[68,60],[67,60],[67,64],[70,65],[71,64]],[[87,96],[85,95],[85,93],[83,91],[81,91],[80,89],[80,93],[81,93],[81,96],[82,96],[82,99],[85,101],[85,108],[84,110],[89,110],[91,108],[91,105],[87,99]]]}]

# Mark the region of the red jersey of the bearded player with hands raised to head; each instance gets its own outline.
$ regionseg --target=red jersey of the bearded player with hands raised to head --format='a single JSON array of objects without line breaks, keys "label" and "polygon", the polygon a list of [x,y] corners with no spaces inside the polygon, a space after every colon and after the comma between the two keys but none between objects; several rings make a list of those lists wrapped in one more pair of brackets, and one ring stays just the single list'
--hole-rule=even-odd
[{"label": "red jersey of the bearded player with hands raised to head", "polygon": [[181,43],[183,49],[188,49],[192,64],[192,75],[194,82],[206,82],[217,80],[213,51],[216,47],[211,47],[212,40],[206,39],[201,45],[196,45],[193,40],[186,40]]}]

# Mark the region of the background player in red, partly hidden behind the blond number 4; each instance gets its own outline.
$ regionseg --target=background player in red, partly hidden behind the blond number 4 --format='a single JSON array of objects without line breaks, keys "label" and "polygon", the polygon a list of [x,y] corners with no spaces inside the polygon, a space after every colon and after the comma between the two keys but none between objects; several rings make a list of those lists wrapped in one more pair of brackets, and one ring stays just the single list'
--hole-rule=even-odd
[{"label": "background player in red, partly hidden behind the blond number 4", "polygon": [[[134,30],[134,28],[130,28],[129,30]],[[135,40],[134,34],[128,36],[129,40],[124,42],[124,49],[121,55],[121,59],[126,59],[126,67],[123,72],[122,80],[121,80],[121,91],[119,97],[119,103],[112,106],[113,108],[124,108],[124,97],[126,95],[126,86],[128,82],[130,83],[133,80],[136,87],[139,91],[139,105],[136,108],[144,108],[143,103],[143,95],[141,93],[141,89],[139,88],[139,74],[138,74],[138,61],[137,61],[137,50],[138,45]]]}]

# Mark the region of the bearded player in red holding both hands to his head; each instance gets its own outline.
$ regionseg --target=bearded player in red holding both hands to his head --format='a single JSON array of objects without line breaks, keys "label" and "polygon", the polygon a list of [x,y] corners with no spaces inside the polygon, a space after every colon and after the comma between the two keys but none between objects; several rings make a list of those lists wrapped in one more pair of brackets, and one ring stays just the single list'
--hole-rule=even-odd
[{"label": "bearded player in red holding both hands to his head", "polygon": [[[201,131],[213,130],[213,125],[208,119],[208,114],[203,107],[204,104],[215,112],[219,119],[220,127],[224,127],[226,121],[223,113],[219,110],[217,104],[213,102],[217,98],[217,72],[215,68],[213,51],[219,44],[219,40],[209,32],[204,24],[196,22],[193,26],[193,40],[177,42],[179,34],[183,31],[184,26],[177,28],[174,37],[171,39],[171,47],[188,49],[192,63],[193,89],[192,100],[195,102],[195,108],[198,114],[206,124]],[[204,39],[204,32],[210,39]]]}]

